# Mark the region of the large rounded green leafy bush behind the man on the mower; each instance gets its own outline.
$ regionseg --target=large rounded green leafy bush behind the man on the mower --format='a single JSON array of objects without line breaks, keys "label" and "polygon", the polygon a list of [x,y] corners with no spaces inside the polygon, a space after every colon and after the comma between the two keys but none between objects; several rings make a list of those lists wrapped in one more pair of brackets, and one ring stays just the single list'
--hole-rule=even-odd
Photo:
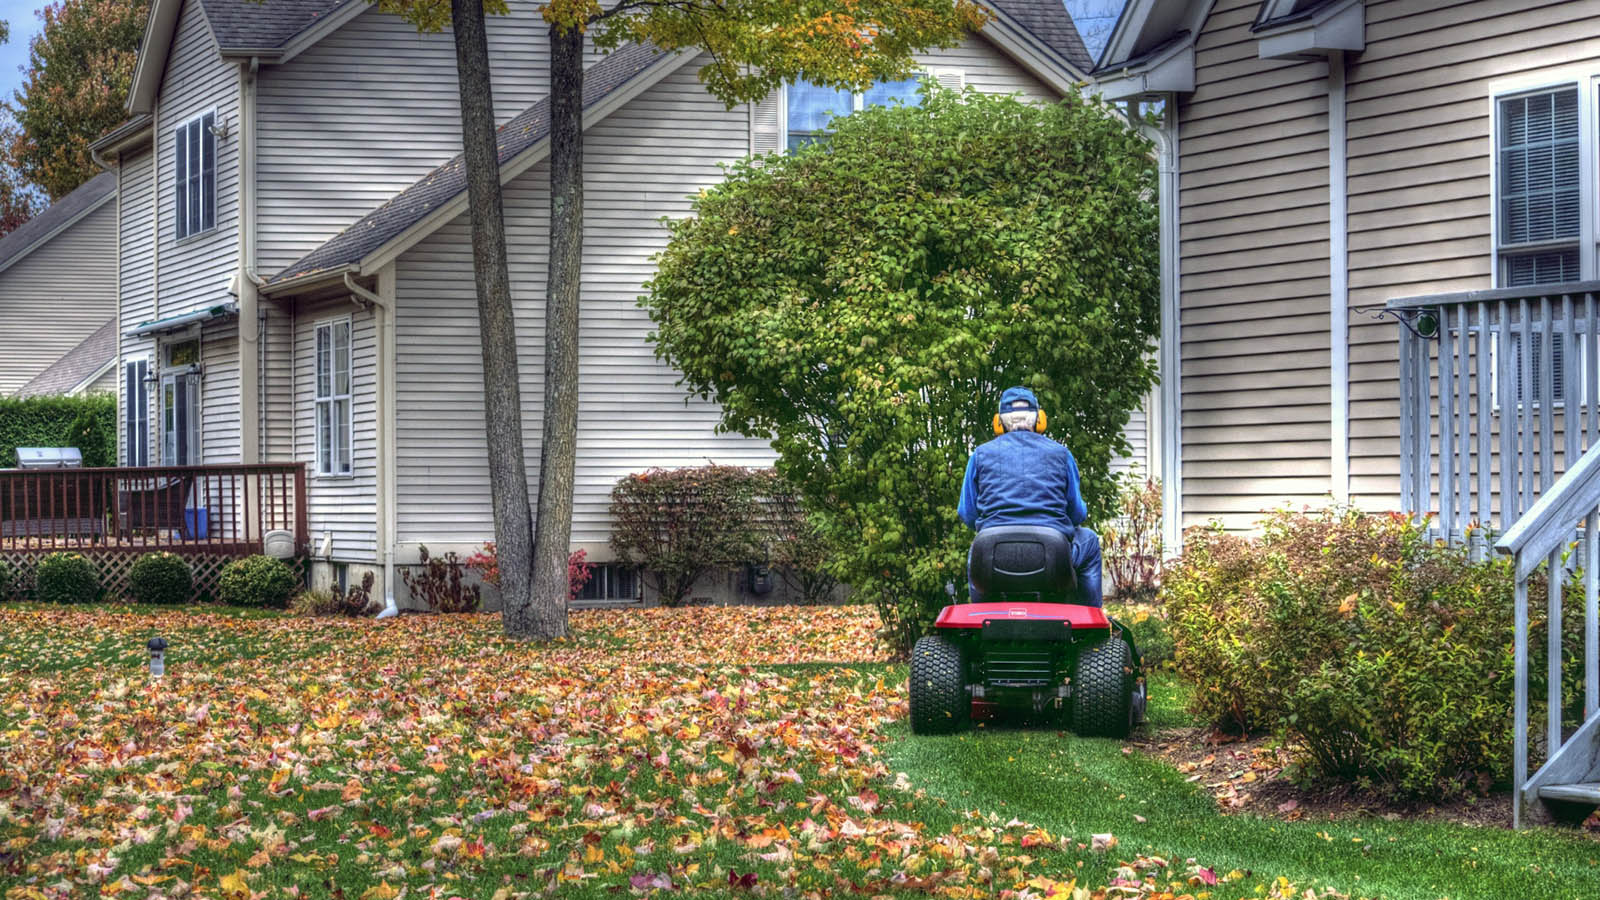
[{"label": "large rounded green leafy bush behind the man on the mower", "polygon": [[650,295],[658,354],[768,437],[832,572],[906,650],[963,583],[955,517],[1008,384],[1032,388],[1117,496],[1128,412],[1155,380],[1155,171],[1110,107],[930,85],[826,144],[736,163],[672,223]]}]

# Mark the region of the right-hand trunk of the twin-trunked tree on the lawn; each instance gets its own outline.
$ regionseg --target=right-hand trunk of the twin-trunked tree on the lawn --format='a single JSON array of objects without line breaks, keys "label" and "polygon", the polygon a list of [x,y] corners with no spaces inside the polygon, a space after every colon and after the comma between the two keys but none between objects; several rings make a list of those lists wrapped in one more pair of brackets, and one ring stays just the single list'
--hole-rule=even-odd
[{"label": "right-hand trunk of the twin-trunked tree on the lawn", "polygon": [[533,535],[533,618],[566,633],[566,554],[578,460],[578,311],[584,261],[584,32],[550,29],[550,271],[544,290],[544,429]]}]

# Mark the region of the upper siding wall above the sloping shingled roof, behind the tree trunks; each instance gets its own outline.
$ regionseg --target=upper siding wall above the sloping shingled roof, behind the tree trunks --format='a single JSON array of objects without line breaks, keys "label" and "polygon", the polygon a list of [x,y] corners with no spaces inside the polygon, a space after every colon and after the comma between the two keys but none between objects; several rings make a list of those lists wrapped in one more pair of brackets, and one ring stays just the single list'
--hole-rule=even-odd
[{"label": "upper siding wall above the sloping shingled roof, behind the tree trunks", "polygon": [[[544,96],[549,26],[533,0],[490,16],[494,119]],[[461,151],[461,94],[448,30],[419,35],[366,10],[310,50],[259,74],[258,266],[274,274]]]}]

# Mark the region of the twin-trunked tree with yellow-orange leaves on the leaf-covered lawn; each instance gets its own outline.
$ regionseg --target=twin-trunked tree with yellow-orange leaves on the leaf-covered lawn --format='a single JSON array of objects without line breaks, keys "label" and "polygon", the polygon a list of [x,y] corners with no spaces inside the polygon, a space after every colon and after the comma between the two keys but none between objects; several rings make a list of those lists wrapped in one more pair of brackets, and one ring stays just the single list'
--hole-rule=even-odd
[{"label": "twin-trunked tree with yellow-orange leaves on the leaf-covered lawn", "polygon": [[[483,323],[485,416],[494,540],[501,554],[506,633],[558,637],[566,631],[566,554],[578,450],[578,317],[582,277],[584,40],[602,50],[653,43],[706,51],[706,88],[733,107],[794,78],[862,90],[902,78],[912,54],[954,46],[987,11],[976,0],[547,0],[550,24],[550,264],[546,283],[544,428],[531,559],[517,346],[506,277],[499,168],[494,155],[488,50],[474,21],[504,13],[504,0],[373,0],[422,30],[454,22],[461,67],[462,146],[472,203],[472,258]],[[469,88],[469,78],[472,86]],[[482,223],[480,223],[482,219]],[[493,221],[490,221],[493,219]],[[491,364],[493,360],[493,364]],[[491,368],[491,365],[494,368]],[[525,580],[523,572],[531,572]]]}]

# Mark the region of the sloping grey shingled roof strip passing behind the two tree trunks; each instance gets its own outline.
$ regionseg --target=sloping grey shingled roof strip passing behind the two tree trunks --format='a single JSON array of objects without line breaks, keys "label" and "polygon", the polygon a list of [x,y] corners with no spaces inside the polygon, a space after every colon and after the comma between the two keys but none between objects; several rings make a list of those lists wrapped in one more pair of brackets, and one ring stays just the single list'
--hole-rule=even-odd
[{"label": "sloping grey shingled roof strip passing behind the two tree trunks", "polygon": [[[662,53],[654,46],[643,45],[626,46],[608,54],[584,70],[584,109],[587,110],[613,93],[618,93],[624,85],[634,82],[646,70],[666,67],[667,61],[683,62],[685,59],[678,54]],[[499,127],[496,133],[499,163],[504,167],[517,155],[549,138],[549,135],[550,101],[544,98]],[[368,253],[400,237],[411,226],[464,194],[466,189],[466,163],[458,154],[382,207],[363,216],[358,223],[274,275],[267,283],[269,290],[272,285],[282,285],[330,269],[346,269],[360,263]]]}]

